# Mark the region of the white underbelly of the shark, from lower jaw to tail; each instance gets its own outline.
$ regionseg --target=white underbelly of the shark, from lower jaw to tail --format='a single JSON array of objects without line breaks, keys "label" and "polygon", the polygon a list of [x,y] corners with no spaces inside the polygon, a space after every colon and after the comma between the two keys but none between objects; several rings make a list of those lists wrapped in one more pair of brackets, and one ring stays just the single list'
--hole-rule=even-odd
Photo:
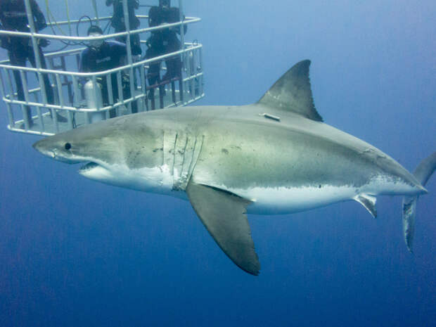
[{"label": "white underbelly of the shark, from lower jaw to tail", "polygon": [[[141,169],[129,169],[125,165],[112,166],[110,169],[98,166],[80,173],[89,179],[105,184],[188,200],[186,193],[182,191],[184,188],[178,187],[183,184],[181,181],[185,181],[185,176],[177,169],[169,169],[167,165]],[[287,214],[352,200],[360,194],[376,196],[378,194],[408,194],[413,191],[411,186],[383,177],[375,177],[361,187],[320,184],[319,186],[300,187],[229,188],[218,183],[195,182],[229,191],[252,201],[247,208],[250,214]]]}]

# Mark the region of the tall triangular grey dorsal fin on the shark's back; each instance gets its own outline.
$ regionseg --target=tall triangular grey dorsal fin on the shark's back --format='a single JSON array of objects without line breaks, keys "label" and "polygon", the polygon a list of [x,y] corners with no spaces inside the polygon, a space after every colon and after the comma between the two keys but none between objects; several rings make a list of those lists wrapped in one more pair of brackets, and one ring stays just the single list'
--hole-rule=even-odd
[{"label": "tall triangular grey dorsal fin on the shark's back", "polygon": [[292,111],[322,122],[315,109],[309,80],[310,60],[302,60],[290,68],[257,102],[271,108]]}]

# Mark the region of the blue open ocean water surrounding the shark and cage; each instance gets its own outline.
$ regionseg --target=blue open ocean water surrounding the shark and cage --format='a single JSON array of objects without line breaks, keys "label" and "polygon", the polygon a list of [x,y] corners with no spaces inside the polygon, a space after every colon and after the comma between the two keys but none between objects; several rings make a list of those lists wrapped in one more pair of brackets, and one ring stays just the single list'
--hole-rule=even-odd
[{"label": "blue open ocean water surrounding the shark and cage", "polygon": [[[52,2],[65,18],[65,2]],[[72,17],[93,14],[90,1],[71,2]],[[436,150],[434,1],[235,2],[184,1],[203,18],[186,35],[204,45],[202,105],[255,102],[309,58],[326,123],[412,171]],[[37,136],[8,132],[1,112],[0,326],[436,325],[435,177],[418,202],[414,255],[401,198],[386,196],[378,219],[352,202],[250,216],[255,277],[188,202],[84,179],[34,151]]]}]

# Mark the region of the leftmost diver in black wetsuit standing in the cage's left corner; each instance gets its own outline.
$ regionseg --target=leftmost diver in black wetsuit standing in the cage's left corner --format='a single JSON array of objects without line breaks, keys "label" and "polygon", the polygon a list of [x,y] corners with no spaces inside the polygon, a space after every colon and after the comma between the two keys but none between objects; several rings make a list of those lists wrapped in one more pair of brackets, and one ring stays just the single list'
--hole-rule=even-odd
[{"label": "leftmost diver in black wetsuit standing in the cage's left corner", "polygon": [[[35,0],[30,0],[30,6],[32,9],[35,29],[37,32],[39,32],[47,26],[44,14],[41,12],[41,9]],[[0,23],[1,30],[30,32],[24,0],[0,0]],[[25,67],[26,61],[29,60],[32,66],[36,67],[34,49],[30,37],[13,37],[2,35],[0,41],[1,47],[8,51],[11,65]],[[46,39],[38,39],[37,51],[39,52],[39,58],[41,58],[41,68],[43,69],[46,69],[46,61],[41,47],[47,46],[48,43],[49,42]],[[18,70],[13,70],[13,76],[17,86],[18,100],[25,101],[23,82],[21,80],[20,72]],[[47,74],[42,74],[42,78],[44,80],[44,86],[46,89],[47,102],[53,104],[53,89],[51,88],[49,76]],[[29,119],[28,121],[30,125],[32,125],[32,112],[28,106],[25,107],[25,115],[27,115],[27,118]],[[65,117],[60,115],[57,117],[58,121],[66,122]]]}]

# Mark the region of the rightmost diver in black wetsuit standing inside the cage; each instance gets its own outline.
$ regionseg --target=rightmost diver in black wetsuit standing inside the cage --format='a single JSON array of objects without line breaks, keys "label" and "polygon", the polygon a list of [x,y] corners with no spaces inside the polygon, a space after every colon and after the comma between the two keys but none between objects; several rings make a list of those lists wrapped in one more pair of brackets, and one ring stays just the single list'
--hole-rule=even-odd
[{"label": "rightmost diver in black wetsuit standing inside the cage", "polygon": [[[155,27],[165,23],[177,23],[180,21],[179,8],[171,6],[171,0],[159,0],[159,6],[153,6],[148,11],[148,26]],[[186,33],[186,25],[184,25]],[[151,36],[147,40],[146,58],[154,58],[165,55],[181,49],[181,43],[177,34],[180,34],[180,27],[169,27],[164,30],[156,30],[151,32]],[[162,81],[169,81],[173,78],[181,78],[181,60],[180,56],[172,56],[165,60],[167,72],[160,78],[160,62],[150,63],[148,68],[147,79],[148,84],[153,86],[160,84]],[[163,88],[160,89],[163,91]],[[154,96],[154,88],[150,89],[148,98]]]}]

